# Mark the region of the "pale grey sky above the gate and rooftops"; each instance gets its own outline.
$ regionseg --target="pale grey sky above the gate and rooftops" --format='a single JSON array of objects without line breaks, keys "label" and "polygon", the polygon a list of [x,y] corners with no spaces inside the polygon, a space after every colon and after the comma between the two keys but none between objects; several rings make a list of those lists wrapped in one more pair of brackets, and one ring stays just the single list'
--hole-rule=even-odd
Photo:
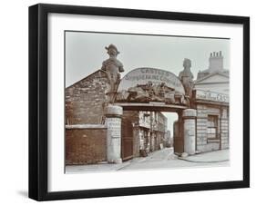
[{"label": "pale grey sky above the gate and rooftops", "polygon": [[[196,78],[199,71],[208,68],[210,53],[219,51],[224,56],[224,68],[230,69],[230,40],[209,37],[68,31],[65,34],[66,87],[100,69],[102,62],[108,59],[105,47],[109,44],[115,44],[120,52],[118,60],[125,69],[121,77],[138,67],[159,68],[179,75],[184,58],[189,58],[190,70]],[[172,122],[177,119],[177,114],[166,115],[172,132]]]}]

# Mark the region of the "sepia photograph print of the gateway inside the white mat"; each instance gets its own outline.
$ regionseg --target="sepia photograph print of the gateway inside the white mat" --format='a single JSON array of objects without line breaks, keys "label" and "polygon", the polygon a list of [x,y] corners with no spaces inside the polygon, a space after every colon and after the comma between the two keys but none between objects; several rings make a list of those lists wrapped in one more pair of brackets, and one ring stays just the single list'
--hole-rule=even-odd
[{"label": "sepia photograph print of the gateway inside the white mat", "polygon": [[65,173],[230,165],[230,38],[65,31]]}]

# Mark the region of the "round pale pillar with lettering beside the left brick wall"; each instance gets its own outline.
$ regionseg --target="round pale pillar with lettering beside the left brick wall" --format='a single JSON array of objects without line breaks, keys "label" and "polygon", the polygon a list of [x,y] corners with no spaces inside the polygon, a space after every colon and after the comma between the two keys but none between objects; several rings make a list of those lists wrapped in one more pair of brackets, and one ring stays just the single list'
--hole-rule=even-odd
[{"label": "round pale pillar with lettering beside the left brick wall", "polygon": [[107,134],[107,160],[109,163],[121,163],[121,117],[123,108],[108,105],[105,110]]}]

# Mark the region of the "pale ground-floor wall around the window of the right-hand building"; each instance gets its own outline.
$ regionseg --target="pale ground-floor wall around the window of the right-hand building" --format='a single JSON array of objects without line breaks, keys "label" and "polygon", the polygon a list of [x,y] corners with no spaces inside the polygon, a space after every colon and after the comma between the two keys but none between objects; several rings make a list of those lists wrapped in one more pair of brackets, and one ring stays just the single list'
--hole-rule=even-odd
[{"label": "pale ground-floor wall around the window of the right-hand building", "polygon": [[[227,108],[223,106],[210,104],[197,104],[197,150],[198,151],[216,151],[229,148],[229,126]],[[207,122],[208,115],[218,116],[219,140],[208,140]],[[221,144],[220,144],[221,142]]]}]

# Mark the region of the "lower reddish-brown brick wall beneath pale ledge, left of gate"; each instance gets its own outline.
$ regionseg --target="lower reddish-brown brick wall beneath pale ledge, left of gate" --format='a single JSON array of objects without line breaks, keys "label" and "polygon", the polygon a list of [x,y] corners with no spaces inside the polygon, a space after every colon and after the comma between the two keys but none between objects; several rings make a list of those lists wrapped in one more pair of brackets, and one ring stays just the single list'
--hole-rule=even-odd
[{"label": "lower reddish-brown brick wall beneath pale ledge, left of gate", "polygon": [[107,129],[66,129],[66,164],[107,160]]}]

